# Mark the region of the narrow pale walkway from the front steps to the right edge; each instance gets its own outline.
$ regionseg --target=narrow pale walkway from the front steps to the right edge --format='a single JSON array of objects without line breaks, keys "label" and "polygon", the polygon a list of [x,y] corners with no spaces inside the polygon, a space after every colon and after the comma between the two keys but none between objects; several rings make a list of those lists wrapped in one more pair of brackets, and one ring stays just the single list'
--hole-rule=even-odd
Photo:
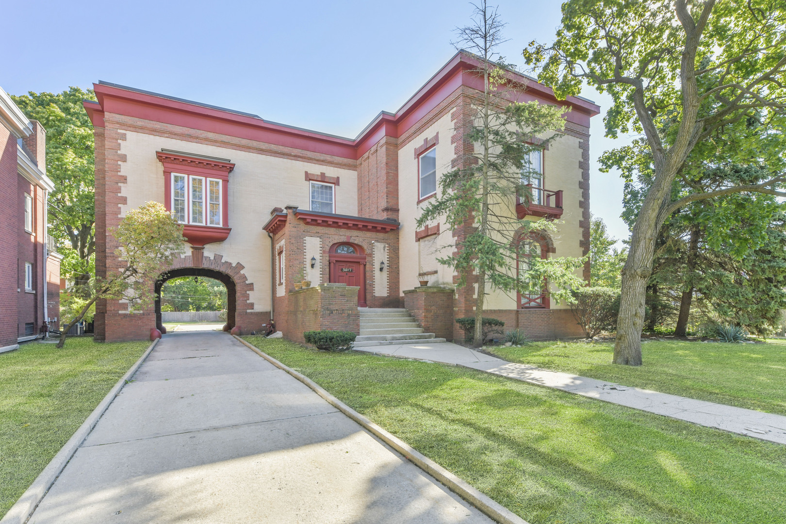
[{"label": "narrow pale walkway from the front steps to the right edge", "polygon": [[549,371],[532,365],[515,364],[454,343],[358,347],[356,350],[462,365],[538,384],[538,386],[553,387],[556,390],[597,398],[612,404],[626,405],[630,408],[686,420],[701,426],[715,427],[748,437],[786,444],[786,416],[621,386],[603,380],[589,379],[586,376]]}]

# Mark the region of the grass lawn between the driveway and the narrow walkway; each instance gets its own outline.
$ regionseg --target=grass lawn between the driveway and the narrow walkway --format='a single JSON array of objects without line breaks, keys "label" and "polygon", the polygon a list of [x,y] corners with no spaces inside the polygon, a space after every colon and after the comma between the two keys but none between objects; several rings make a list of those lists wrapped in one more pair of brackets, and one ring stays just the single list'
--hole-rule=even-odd
[{"label": "grass lawn between the driveway and the narrow walkway", "polygon": [[786,522],[786,446],[457,366],[246,339],[531,524]]}]

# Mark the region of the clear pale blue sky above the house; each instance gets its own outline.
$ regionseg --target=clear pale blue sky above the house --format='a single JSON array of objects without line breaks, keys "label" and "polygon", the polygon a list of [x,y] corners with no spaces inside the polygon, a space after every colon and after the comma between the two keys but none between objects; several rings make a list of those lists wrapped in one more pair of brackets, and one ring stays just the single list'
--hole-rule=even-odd
[{"label": "clear pale blue sky above the house", "polygon": [[[528,42],[553,38],[560,2],[498,5],[509,24],[502,53],[523,65]],[[354,137],[453,56],[452,30],[471,9],[447,0],[9,2],[0,86],[57,93],[105,80]],[[608,108],[608,97],[582,95]],[[597,170],[622,140],[603,137],[602,118],[591,130],[591,208],[623,238],[622,180]]]}]

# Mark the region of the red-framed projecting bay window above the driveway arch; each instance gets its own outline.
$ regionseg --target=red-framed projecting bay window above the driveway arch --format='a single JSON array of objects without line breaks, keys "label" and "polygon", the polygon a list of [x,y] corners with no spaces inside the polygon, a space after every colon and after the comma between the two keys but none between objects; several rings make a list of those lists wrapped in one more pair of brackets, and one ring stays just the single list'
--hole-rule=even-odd
[{"label": "red-framed projecting bay window above the driveway arch", "polygon": [[221,242],[230,235],[229,184],[235,164],[226,159],[162,149],[164,205],[182,223],[193,246]]}]

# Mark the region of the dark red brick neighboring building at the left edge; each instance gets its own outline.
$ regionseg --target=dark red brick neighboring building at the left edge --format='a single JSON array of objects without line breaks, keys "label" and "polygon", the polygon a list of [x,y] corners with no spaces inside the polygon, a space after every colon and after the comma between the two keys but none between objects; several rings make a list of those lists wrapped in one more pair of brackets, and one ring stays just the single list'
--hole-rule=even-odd
[{"label": "dark red brick neighboring building at the left edge", "polygon": [[[46,236],[46,130],[0,88],[0,352],[57,326],[60,261]],[[48,245],[49,244],[49,245]],[[52,248],[52,251],[49,251]]]}]

